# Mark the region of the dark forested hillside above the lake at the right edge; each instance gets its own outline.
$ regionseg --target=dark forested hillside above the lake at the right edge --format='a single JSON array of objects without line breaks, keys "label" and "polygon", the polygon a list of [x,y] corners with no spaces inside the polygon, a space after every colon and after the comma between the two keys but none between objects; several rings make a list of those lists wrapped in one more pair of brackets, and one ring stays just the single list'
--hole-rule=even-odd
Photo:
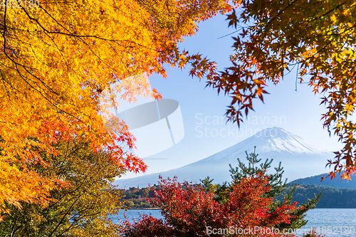
[{"label": "dark forested hillside above the lake at the right edge", "polygon": [[355,209],[355,189],[335,189],[330,186],[317,186],[315,184],[298,185],[293,194],[293,201],[303,204],[308,199],[315,197],[322,191],[321,199],[316,208],[319,209]]}]

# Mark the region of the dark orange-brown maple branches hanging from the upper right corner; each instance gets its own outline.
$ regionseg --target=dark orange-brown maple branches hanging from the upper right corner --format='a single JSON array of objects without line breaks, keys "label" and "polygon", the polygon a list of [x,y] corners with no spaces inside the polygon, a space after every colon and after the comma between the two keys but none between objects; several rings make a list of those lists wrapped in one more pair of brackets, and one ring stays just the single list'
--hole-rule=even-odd
[{"label": "dark orange-brown maple branches hanging from the upper right corner", "polygon": [[266,82],[278,84],[297,68],[297,80],[308,83],[327,108],[323,125],[344,147],[328,165],[331,179],[341,172],[350,179],[356,170],[355,46],[356,2],[353,0],[236,0],[229,14],[233,37],[232,65],[212,76],[208,85],[231,95],[226,111],[238,125],[263,101]]}]

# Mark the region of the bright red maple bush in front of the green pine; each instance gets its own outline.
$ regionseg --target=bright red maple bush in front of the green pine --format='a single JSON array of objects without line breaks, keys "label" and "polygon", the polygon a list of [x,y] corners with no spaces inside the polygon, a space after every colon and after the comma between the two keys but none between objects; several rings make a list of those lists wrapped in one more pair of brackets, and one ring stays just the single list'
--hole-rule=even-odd
[{"label": "bright red maple bush in front of the green pine", "polygon": [[[235,233],[236,230],[256,226],[271,231],[278,223],[290,222],[290,211],[296,209],[295,203],[285,203],[270,211],[273,198],[263,194],[271,186],[267,185],[268,177],[262,172],[231,186],[229,200],[224,204],[215,201],[214,193],[201,185],[179,183],[177,177],[160,179],[158,188],[152,189],[155,196],[151,202],[162,210],[164,220],[144,215],[135,223],[126,221],[124,236],[209,236],[209,230],[224,228],[230,233],[214,233],[214,236],[237,236],[241,233]],[[272,231],[271,236],[282,234],[282,231]],[[266,233],[254,231],[243,236],[266,236]]]}]

